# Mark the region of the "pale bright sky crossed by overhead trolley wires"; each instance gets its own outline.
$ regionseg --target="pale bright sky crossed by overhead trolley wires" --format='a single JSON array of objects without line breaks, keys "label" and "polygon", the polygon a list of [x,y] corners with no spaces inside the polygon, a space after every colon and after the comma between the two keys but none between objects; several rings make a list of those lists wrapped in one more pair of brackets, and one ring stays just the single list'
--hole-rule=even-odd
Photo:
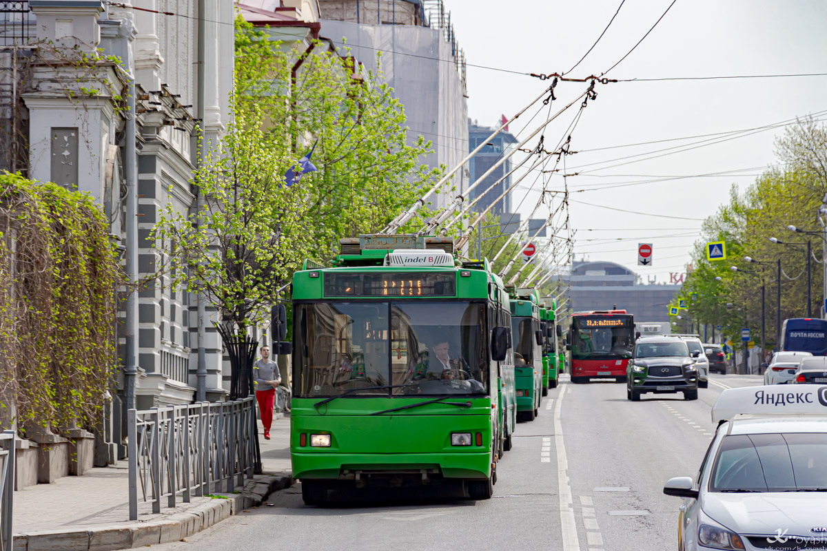
[{"label": "pale bright sky crossed by overhead trolley wires", "polygon": [[[625,0],[605,36],[567,76],[583,78],[607,71],[671,3]],[[519,112],[550,82],[508,71],[570,71],[619,4],[620,0],[445,0],[467,62],[485,66],[467,69],[468,115],[494,126],[501,114],[510,117]],[[827,73],[825,26],[827,2],[821,0],[676,0],[647,38],[606,76]],[[570,223],[576,230],[576,259],[585,255],[617,262],[640,274],[643,283],[652,278],[669,283],[671,273],[685,271],[703,219],[728,201],[730,188],[746,188],[777,164],[774,140],[783,127],[744,132],[737,138],[721,134],[713,140],[719,143],[711,145],[703,144],[715,136],[617,146],[757,129],[820,112],[827,120],[825,86],[824,76],[596,85],[597,98],[569,131],[570,149],[579,153],[564,157],[565,172],[578,173],[565,178]],[[586,87],[559,83],[552,113]],[[576,102],[546,127],[546,149],[563,139],[579,106]],[[516,134],[538,113],[518,140],[549,113],[549,107],[542,111],[538,107],[509,127]],[[528,145],[536,145],[536,140]],[[521,160],[519,155],[512,159]],[[690,178],[652,181],[685,176]],[[519,206],[514,210],[523,218],[537,205],[543,188],[543,177],[536,177],[529,174],[512,196],[512,205]],[[548,190],[564,189],[562,171],[544,178]],[[547,208],[541,204],[533,217],[546,217]],[[638,243],[653,245],[652,266],[636,265]]]}]

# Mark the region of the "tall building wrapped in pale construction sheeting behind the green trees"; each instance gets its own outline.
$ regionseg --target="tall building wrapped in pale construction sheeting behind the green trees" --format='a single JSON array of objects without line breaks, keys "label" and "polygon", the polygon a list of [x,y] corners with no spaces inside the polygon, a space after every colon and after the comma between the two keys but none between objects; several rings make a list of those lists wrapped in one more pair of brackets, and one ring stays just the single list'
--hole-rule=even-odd
[{"label": "tall building wrapped in pale construction sheeting behind the green trees", "polygon": [[[442,0],[319,0],[322,36],[367,69],[380,68],[408,119],[408,142],[419,136],[432,168],[452,169],[468,153],[465,55]],[[444,207],[468,187],[467,167],[432,199]]]}]

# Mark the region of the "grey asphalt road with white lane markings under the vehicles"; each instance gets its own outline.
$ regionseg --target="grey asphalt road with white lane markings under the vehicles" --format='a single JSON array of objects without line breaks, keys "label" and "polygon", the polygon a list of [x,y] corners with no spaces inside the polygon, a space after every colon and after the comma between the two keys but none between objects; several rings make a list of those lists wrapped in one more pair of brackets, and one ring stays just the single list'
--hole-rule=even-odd
[{"label": "grey asphalt road with white lane markings under the vehicles", "polygon": [[626,400],[622,384],[566,378],[537,420],[519,425],[489,501],[406,489],[334,493],[322,509],[304,506],[297,485],[271,496],[270,506],[157,549],[676,549],[680,500],[664,496],[663,483],[697,472],[724,387],[762,383],[711,377],[697,401],[676,394],[640,402]]}]

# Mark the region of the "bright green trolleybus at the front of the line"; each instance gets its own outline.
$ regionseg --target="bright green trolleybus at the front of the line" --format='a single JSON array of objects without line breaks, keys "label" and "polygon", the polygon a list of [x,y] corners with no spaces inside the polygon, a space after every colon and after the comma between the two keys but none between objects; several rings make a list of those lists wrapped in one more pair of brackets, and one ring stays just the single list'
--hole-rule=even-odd
[{"label": "bright green trolleybus at the front of the line", "polygon": [[[333,488],[496,482],[507,295],[450,238],[342,240],[293,279],[290,457],[308,505]],[[506,369],[507,372],[507,369]]]}]

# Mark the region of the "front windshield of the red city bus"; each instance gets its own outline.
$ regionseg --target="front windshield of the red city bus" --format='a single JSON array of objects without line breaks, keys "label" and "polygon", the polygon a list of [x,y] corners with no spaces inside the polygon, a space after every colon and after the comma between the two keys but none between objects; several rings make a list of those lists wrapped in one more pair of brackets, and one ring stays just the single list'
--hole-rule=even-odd
[{"label": "front windshield of the red city bus", "polygon": [[629,316],[574,316],[571,321],[572,359],[631,358],[633,344]]}]

